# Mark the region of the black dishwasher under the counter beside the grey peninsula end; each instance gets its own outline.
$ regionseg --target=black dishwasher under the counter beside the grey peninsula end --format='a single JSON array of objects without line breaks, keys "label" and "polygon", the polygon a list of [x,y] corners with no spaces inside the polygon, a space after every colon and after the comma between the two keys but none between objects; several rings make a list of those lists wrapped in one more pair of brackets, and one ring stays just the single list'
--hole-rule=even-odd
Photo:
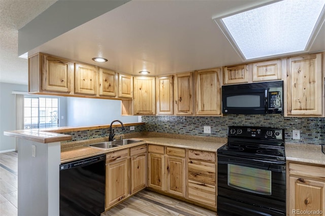
[{"label": "black dishwasher under the counter beside the grey peninsula end", "polygon": [[60,165],[60,215],[101,215],[105,211],[106,156]]}]

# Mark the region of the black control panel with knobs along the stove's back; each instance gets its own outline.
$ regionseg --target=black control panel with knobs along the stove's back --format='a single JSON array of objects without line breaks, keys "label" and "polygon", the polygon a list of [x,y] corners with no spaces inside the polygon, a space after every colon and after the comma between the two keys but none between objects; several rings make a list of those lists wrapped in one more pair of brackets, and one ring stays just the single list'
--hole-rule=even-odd
[{"label": "black control panel with knobs along the stove's back", "polygon": [[277,128],[230,126],[228,137],[251,137],[284,140],[284,130]]}]

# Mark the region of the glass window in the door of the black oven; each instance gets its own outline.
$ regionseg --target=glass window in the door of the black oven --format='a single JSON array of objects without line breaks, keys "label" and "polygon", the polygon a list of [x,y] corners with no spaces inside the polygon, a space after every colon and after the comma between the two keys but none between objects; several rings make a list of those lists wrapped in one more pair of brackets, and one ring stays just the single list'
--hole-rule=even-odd
[{"label": "glass window in the door of the black oven", "polygon": [[228,164],[228,185],[256,194],[271,195],[271,171]]}]

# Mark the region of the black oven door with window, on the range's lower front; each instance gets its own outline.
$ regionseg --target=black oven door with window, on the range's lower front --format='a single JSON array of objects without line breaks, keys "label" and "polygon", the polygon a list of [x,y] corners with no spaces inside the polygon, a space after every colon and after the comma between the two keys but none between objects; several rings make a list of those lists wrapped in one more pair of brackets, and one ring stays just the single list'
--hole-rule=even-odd
[{"label": "black oven door with window, on the range's lower front", "polygon": [[285,215],[285,162],[218,154],[217,214]]}]

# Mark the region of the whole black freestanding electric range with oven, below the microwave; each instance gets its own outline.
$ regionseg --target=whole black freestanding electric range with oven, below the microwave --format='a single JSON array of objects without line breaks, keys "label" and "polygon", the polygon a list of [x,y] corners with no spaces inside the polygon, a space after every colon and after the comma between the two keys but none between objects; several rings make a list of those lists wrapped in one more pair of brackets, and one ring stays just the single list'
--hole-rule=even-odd
[{"label": "whole black freestanding electric range with oven, below the microwave", "polygon": [[285,215],[283,129],[231,126],[217,155],[219,216]]}]

